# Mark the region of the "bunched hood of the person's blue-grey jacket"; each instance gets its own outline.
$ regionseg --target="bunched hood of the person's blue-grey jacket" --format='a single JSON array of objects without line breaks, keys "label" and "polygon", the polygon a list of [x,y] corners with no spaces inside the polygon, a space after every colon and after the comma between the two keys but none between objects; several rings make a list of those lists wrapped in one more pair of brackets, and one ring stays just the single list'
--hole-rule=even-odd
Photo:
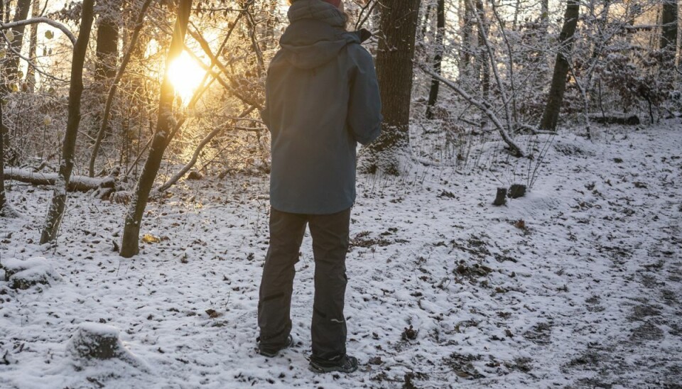
[{"label": "bunched hood of the person's blue-grey jacket", "polygon": [[298,0],[289,7],[287,16],[291,24],[279,43],[286,60],[301,69],[314,69],[330,62],[345,45],[362,43],[362,38],[369,34],[366,30],[345,31],[345,16],[322,0]]}]

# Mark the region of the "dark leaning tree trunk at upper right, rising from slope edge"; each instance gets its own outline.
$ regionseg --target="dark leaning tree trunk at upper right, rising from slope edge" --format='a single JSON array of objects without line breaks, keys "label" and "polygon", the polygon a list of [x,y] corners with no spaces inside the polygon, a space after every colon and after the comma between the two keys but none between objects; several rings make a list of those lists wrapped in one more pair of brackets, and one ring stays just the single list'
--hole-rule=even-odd
[{"label": "dark leaning tree trunk at upper right, rising from slope edge", "polygon": [[573,48],[573,34],[578,25],[578,14],[580,12],[580,2],[578,0],[568,0],[566,11],[563,16],[563,27],[559,35],[561,45],[556,53],[556,63],[554,64],[554,74],[549,88],[549,96],[545,111],[540,121],[540,129],[554,131],[559,119],[559,111],[563,102],[563,94],[566,90],[566,76],[568,75],[568,56]]}]

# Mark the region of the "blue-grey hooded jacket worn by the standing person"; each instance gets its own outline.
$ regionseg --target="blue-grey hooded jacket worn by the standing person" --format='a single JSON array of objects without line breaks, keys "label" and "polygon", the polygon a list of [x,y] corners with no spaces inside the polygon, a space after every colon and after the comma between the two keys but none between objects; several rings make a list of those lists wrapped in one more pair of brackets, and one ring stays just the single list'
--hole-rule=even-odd
[{"label": "blue-grey hooded jacket worn by the standing person", "polygon": [[321,0],[298,0],[266,81],[270,203],[283,212],[332,214],[355,201],[355,150],[381,131],[381,99],[361,33]]}]

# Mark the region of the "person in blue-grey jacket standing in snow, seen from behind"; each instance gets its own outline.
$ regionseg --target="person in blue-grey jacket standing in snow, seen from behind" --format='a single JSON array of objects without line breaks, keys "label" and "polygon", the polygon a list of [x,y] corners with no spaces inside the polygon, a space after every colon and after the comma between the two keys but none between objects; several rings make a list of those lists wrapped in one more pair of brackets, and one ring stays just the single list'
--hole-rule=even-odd
[{"label": "person in blue-grey jacket standing in snow, seen from behind", "polygon": [[294,265],[308,224],[315,257],[310,369],[357,369],[343,314],[357,143],[381,131],[369,31],[347,32],[342,0],[290,0],[289,26],[270,63],[261,112],[271,132],[270,246],[259,291],[258,350],[291,346]]}]

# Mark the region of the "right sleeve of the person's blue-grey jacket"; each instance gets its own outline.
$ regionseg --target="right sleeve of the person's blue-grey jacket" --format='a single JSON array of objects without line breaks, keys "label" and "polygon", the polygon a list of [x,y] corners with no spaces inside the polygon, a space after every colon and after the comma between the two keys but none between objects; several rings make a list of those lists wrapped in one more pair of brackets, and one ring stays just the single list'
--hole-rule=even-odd
[{"label": "right sleeve of the person's blue-grey jacket", "polygon": [[350,77],[347,124],[353,138],[366,145],[381,133],[381,97],[374,61],[360,45],[350,45],[354,72]]}]

